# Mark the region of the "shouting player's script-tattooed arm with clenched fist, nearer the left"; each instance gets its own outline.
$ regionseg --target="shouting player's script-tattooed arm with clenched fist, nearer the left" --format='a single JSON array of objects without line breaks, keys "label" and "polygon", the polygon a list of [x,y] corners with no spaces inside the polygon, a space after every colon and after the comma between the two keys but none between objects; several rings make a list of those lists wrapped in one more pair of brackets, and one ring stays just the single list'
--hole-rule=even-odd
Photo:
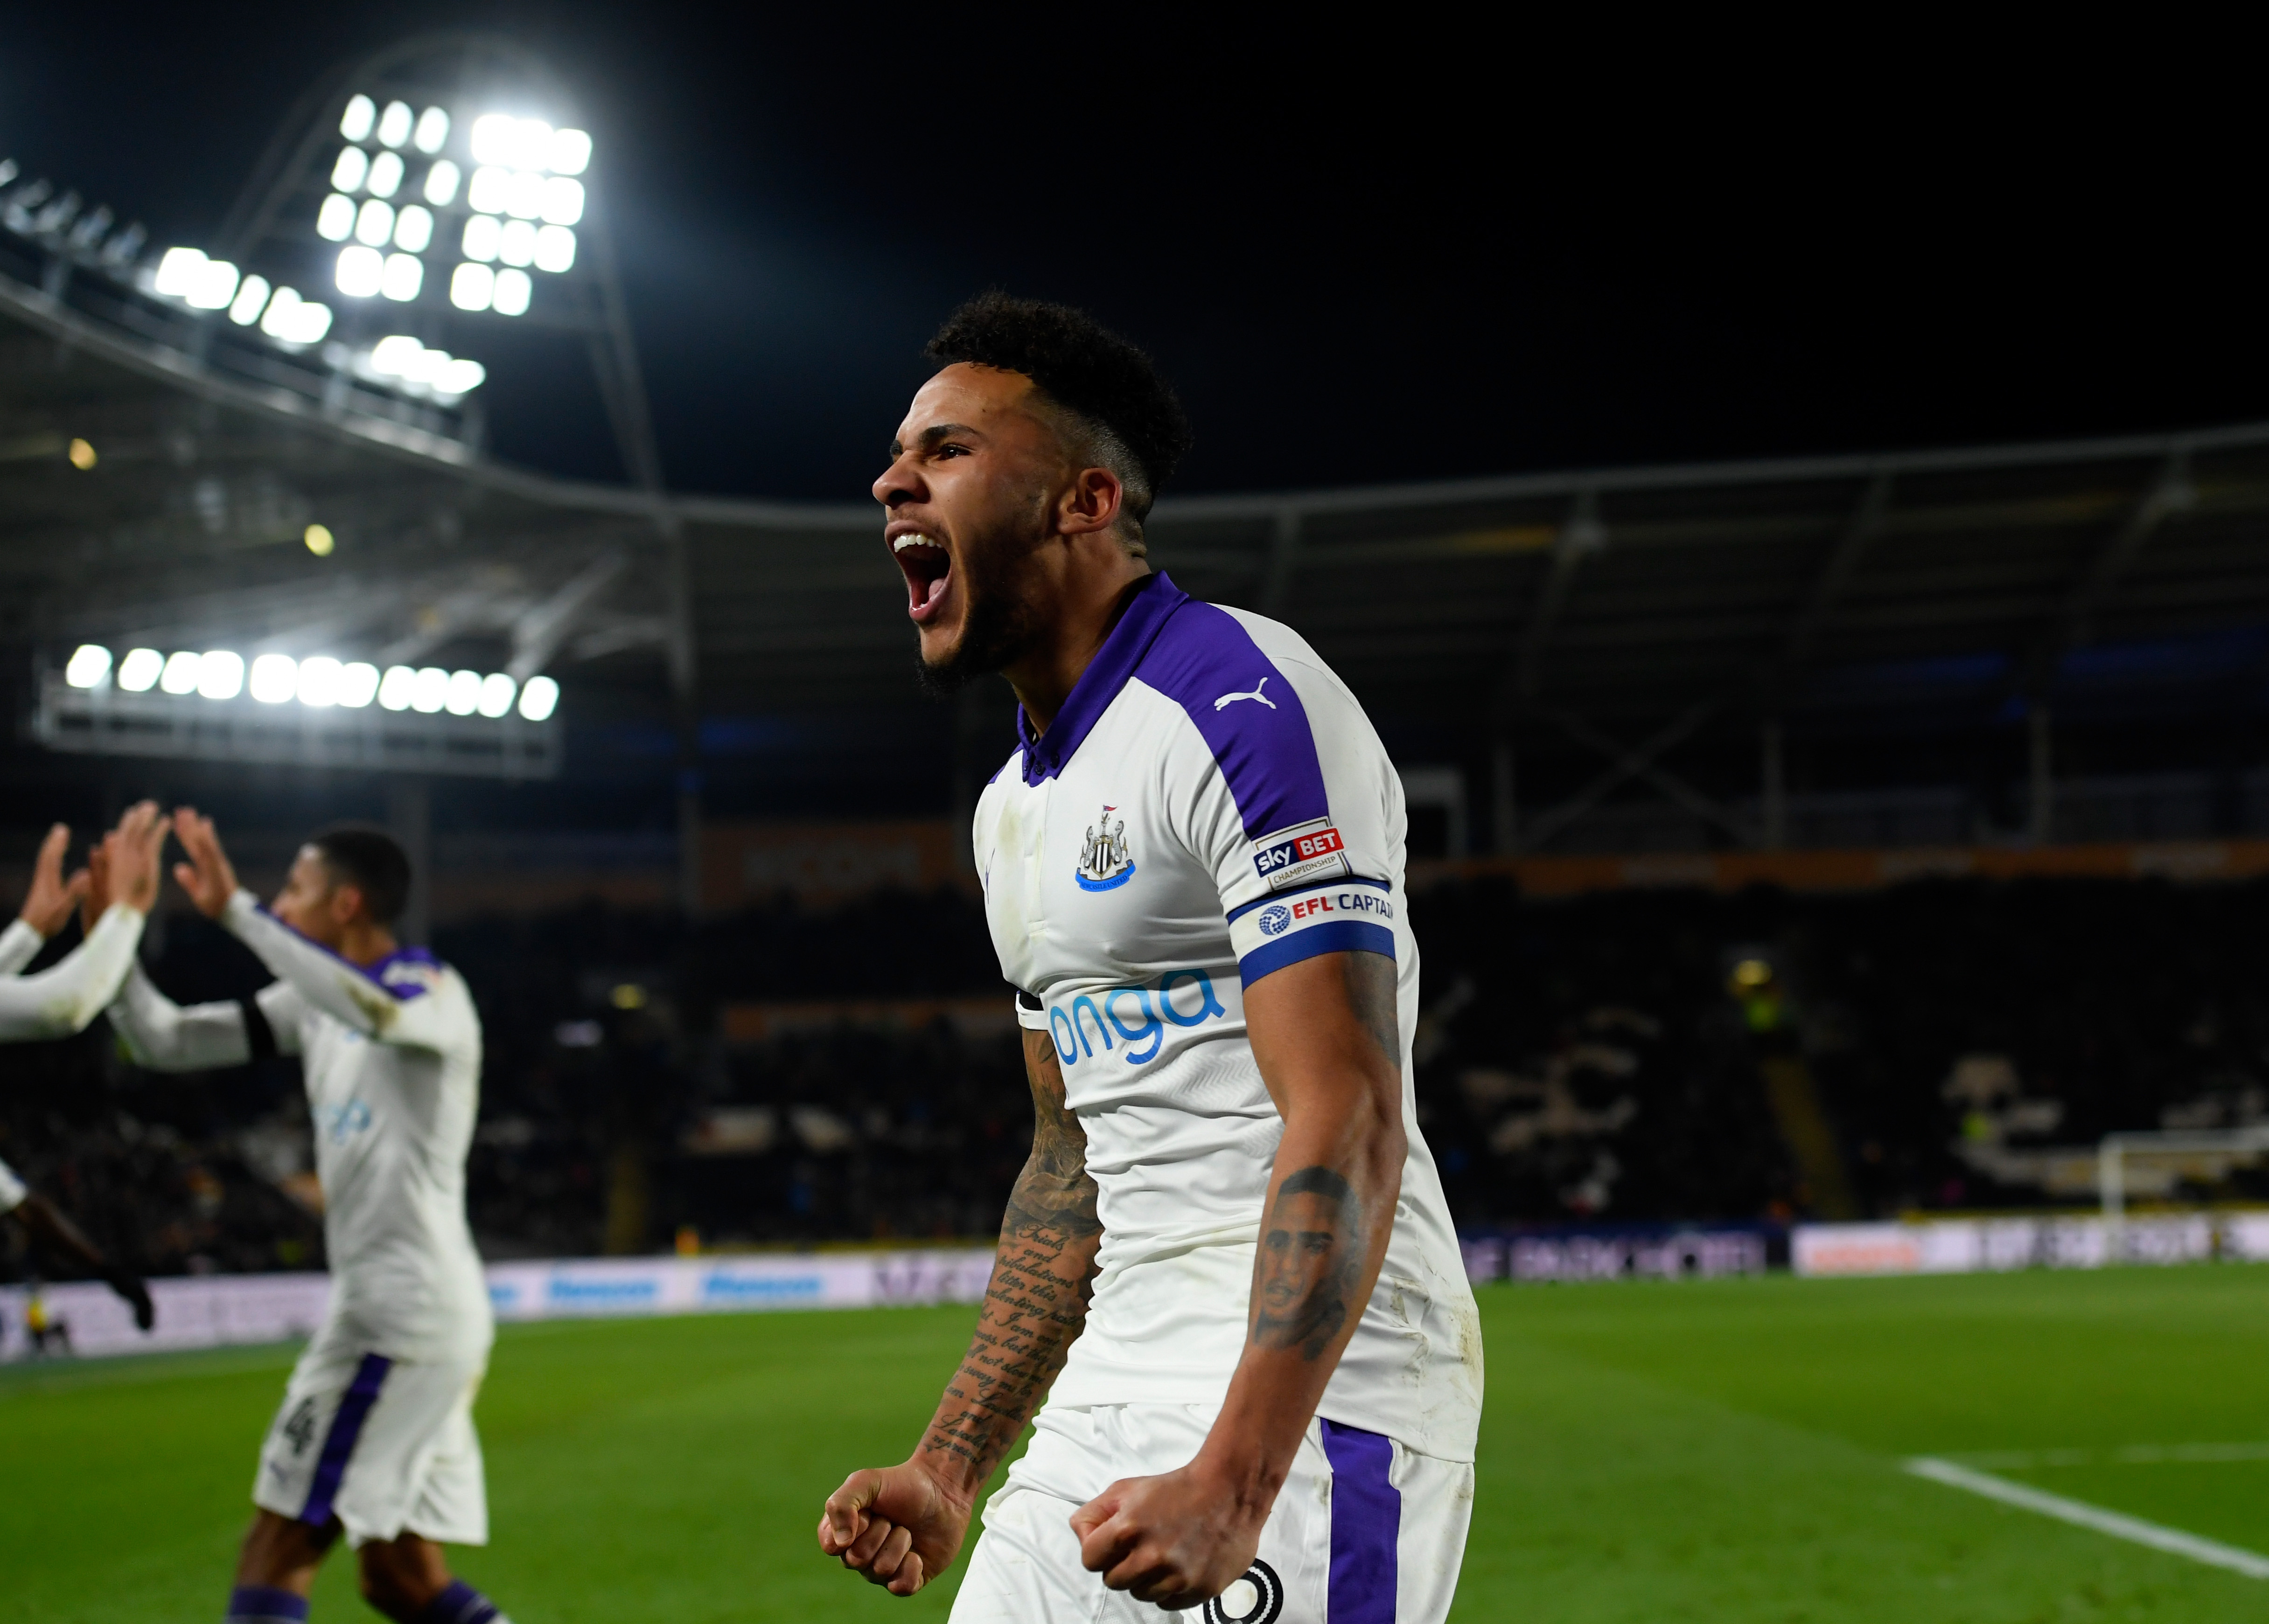
[{"label": "shouting player's script-tattooed arm with clenched fist, nearer the left", "polygon": [[1087,1134],[1064,1105],[1046,1032],[1023,1034],[1032,1154],[1010,1191],[992,1284],[960,1370],[905,1465],[853,1472],[819,1517],[819,1549],[910,1597],[960,1551],[978,1490],[1064,1368],[1103,1245]]}]

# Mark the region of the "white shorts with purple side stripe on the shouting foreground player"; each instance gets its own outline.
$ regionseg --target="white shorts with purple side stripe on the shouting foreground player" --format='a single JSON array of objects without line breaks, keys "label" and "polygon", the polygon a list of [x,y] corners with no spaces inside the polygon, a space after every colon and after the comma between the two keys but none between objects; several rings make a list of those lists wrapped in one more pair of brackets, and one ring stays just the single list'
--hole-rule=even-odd
[{"label": "white shorts with purple side stripe on the shouting foreground player", "polygon": [[1311,1420],[1246,1576],[1162,1613],[1080,1567],[1071,1513],[1121,1477],[1189,1465],[1209,1404],[1046,1406],[985,1506],[953,1624],[1441,1624],[1473,1522],[1473,1463]]}]

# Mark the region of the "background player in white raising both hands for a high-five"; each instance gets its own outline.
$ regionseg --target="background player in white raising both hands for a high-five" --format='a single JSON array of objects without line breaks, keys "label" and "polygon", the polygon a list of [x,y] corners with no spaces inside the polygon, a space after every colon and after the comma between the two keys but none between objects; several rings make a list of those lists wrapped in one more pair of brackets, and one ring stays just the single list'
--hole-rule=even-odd
[{"label": "background player in white raising both hands for a high-five", "polygon": [[[472,1397],[495,1325],[465,1223],[481,1018],[463,978],[395,941],[411,864],[377,830],[300,848],[272,907],[236,885],[213,823],[175,812],[175,880],[277,975],[241,1003],[170,1003],[136,969],[111,1009],[159,1071],[297,1055],[315,1118],[331,1306],[261,1449],[231,1624],[304,1619],[345,1531],[363,1597],[399,1624],[490,1624],[442,1545],[488,1542]],[[98,866],[91,889],[100,891]]]}]

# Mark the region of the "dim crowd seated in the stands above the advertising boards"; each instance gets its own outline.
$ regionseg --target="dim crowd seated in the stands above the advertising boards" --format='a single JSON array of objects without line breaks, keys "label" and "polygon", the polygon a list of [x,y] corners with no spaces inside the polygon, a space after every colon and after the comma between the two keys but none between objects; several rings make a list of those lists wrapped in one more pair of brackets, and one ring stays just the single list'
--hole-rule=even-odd
[{"label": "dim crowd seated in the stands above the advertising boards", "polygon": [[[1461,1225],[1788,1218],[1813,1193],[1761,1071],[1793,1055],[1865,1211],[2072,1198],[2044,1148],[2269,1118],[2264,905],[2262,885],[1441,882],[1411,905],[1420,1123]],[[960,891],[694,928],[594,903],[436,948],[488,1034],[470,1209],[490,1257],[998,1223],[1030,1102]],[[182,1003],[265,980],[191,914],[166,914],[145,959]],[[1736,966],[1761,962],[1770,1000],[1736,996]],[[830,1018],[830,1000],[862,1007]],[[747,1005],[803,1014],[749,1027]],[[320,1266],[306,1134],[293,1061],[159,1077],[100,1023],[7,1052],[0,1154],[150,1275]],[[0,1247],[0,1277],[41,1263],[14,1227]]]}]

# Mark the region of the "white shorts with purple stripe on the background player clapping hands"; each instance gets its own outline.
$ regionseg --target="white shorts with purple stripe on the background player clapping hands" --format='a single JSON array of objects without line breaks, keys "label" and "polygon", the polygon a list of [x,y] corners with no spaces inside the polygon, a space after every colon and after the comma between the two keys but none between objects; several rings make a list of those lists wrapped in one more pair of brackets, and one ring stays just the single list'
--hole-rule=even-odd
[{"label": "white shorts with purple stripe on the background player clapping hands", "polygon": [[261,1445],[252,1504],[356,1547],[422,1533],[488,1545],[488,1488],[472,1397],[481,1365],[413,1365],[311,1345]]}]

